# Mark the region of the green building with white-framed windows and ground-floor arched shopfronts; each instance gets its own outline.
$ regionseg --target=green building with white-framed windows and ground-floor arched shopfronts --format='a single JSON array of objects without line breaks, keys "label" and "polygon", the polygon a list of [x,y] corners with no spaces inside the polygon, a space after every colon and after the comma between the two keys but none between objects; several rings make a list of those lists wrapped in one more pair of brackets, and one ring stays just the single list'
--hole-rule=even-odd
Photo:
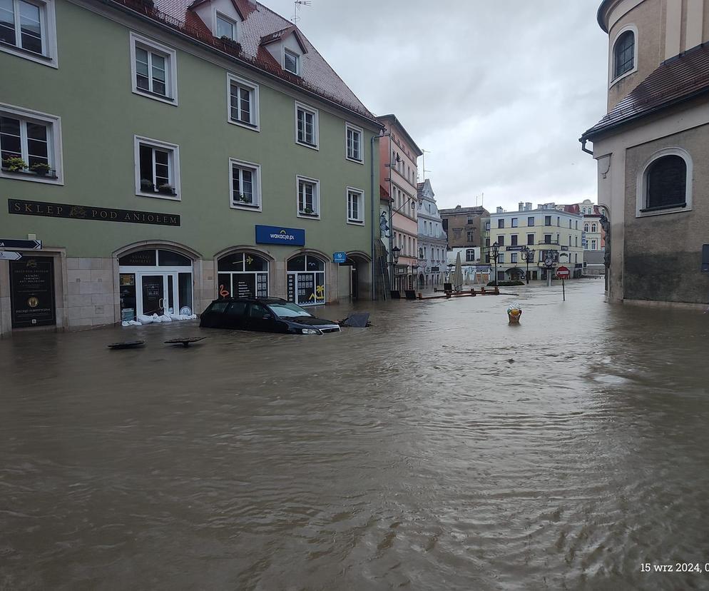
[{"label": "green building with white-framed windows and ground-floor arched shopfronts", "polygon": [[380,126],[265,6],[12,0],[0,71],[0,334],[372,296]]}]

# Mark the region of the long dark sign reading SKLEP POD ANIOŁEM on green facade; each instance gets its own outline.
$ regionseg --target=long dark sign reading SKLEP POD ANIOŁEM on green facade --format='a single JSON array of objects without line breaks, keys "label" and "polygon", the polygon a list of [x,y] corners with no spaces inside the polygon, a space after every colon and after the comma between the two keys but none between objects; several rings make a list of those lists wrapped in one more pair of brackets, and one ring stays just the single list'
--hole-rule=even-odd
[{"label": "long dark sign reading SKLEP POD ANIO\u0141EM on green facade", "polygon": [[22,199],[8,199],[7,206],[10,213],[18,213],[21,216],[150,223],[156,226],[180,226],[180,216],[176,213],[155,213],[154,211],[133,211],[132,209],[75,206],[67,205],[66,203],[46,203],[45,201],[24,201]]}]

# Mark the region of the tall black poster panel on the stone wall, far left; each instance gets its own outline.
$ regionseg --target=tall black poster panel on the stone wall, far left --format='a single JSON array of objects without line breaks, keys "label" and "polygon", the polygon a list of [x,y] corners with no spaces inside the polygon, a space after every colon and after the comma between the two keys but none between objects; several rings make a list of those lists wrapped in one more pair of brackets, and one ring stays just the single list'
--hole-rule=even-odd
[{"label": "tall black poster panel on the stone wall, far left", "polygon": [[12,328],[56,324],[53,258],[11,261],[10,298]]}]

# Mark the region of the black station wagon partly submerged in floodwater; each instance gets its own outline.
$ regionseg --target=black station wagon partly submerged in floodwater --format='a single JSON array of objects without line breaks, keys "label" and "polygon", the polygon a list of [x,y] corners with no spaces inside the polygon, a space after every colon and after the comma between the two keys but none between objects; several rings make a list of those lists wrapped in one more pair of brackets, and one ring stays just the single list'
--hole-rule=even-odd
[{"label": "black station wagon partly submerged in floodwater", "polygon": [[280,298],[214,300],[200,315],[200,326],[297,335],[340,332],[340,325],[336,322],[315,318],[300,305]]}]

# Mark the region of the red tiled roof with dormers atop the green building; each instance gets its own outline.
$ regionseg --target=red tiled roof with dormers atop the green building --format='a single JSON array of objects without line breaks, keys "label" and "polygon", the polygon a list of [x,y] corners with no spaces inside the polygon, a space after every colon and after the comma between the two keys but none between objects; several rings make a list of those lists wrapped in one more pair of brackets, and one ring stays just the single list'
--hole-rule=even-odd
[{"label": "red tiled roof with dormers atop the green building", "polygon": [[[354,111],[359,116],[376,123],[374,115],[354,95],[344,81],[327,64],[327,61],[317,52],[314,46],[297,27],[282,16],[268,9],[263,4],[253,0],[232,0],[239,13],[244,16],[242,23],[242,38],[240,43],[217,39],[202,19],[190,8],[204,1],[199,0],[154,0],[153,7],[146,6],[141,0],[111,0],[131,11],[148,16],[161,24],[175,29],[176,32],[190,36],[195,41],[207,44],[213,49],[228,54],[232,59],[245,62],[250,66],[277,76],[290,84],[300,86],[325,100],[336,103],[347,110]],[[149,4],[149,3],[148,3]],[[303,45],[301,58],[302,76],[295,76],[282,69],[261,46],[262,39],[273,34],[285,34],[284,31],[295,31],[298,41]]]}]

